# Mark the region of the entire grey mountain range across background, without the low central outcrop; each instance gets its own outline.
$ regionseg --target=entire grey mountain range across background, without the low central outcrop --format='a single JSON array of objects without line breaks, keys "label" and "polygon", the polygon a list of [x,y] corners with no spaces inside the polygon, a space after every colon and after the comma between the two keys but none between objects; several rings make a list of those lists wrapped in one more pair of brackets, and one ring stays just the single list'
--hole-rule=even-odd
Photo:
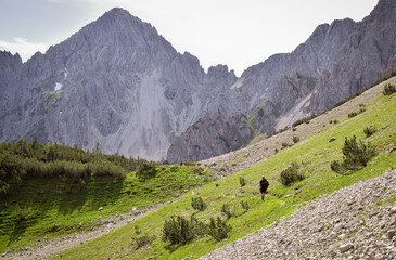
[{"label": "entire grey mountain range across background, without the low central outcrop", "polygon": [[[159,159],[171,143],[191,143],[177,136],[200,118],[206,126],[214,118],[207,113],[220,112],[225,123],[233,118],[227,115],[243,113],[270,133],[285,115],[321,112],[378,79],[396,54],[395,5],[381,0],[362,22],[320,25],[292,53],[241,78],[223,65],[206,74],[153,26],[113,9],[26,63],[0,52],[0,139],[36,135],[90,150],[100,142],[104,153]],[[235,146],[222,147],[205,157]]]}]

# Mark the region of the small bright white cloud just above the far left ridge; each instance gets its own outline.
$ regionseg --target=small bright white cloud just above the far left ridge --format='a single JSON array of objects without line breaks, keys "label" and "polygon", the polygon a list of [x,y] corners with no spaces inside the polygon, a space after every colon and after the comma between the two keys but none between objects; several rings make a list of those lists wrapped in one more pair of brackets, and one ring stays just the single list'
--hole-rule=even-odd
[{"label": "small bright white cloud just above the far left ridge", "polygon": [[44,53],[48,49],[48,46],[44,43],[34,43],[28,42],[27,39],[15,37],[12,39],[13,41],[0,41],[0,48],[11,53],[15,54],[20,53],[20,56],[24,62],[26,62],[33,54],[36,52]]}]

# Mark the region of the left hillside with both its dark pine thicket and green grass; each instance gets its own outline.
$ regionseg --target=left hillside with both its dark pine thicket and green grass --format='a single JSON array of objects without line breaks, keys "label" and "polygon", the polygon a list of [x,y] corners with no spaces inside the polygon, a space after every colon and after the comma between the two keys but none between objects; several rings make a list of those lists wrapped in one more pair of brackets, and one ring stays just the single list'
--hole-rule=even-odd
[{"label": "left hillside with both its dark pine thicket and green grass", "polygon": [[[210,180],[199,166],[159,166],[37,140],[1,143],[0,252],[98,229],[112,216],[145,210]],[[152,236],[137,245],[145,238]]]}]

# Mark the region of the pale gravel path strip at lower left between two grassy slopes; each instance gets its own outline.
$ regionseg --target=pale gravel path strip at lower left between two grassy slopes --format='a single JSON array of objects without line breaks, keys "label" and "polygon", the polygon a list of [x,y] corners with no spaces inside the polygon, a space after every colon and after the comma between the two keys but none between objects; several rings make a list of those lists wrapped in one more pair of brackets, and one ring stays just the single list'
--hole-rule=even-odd
[{"label": "pale gravel path strip at lower left between two grassy slopes", "polygon": [[98,226],[97,230],[93,230],[91,232],[81,232],[80,234],[75,233],[74,235],[61,237],[53,240],[48,240],[37,246],[24,247],[17,251],[5,252],[3,253],[2,259],[27,260],[27,259],[47,259],[50,257],[54,257],[63,251],[78,247],[104,234],[107,234],[108,232],[117,230],[137,219],[148,216],[158,210],[159,208],[164,207],[165,205],[166,204],[156,205],[150,207],[148,210],[144,211],[132,210],[129,214],[125,216],[122,214],[113,216],[108,220],[104,221],[102,225]]}]

